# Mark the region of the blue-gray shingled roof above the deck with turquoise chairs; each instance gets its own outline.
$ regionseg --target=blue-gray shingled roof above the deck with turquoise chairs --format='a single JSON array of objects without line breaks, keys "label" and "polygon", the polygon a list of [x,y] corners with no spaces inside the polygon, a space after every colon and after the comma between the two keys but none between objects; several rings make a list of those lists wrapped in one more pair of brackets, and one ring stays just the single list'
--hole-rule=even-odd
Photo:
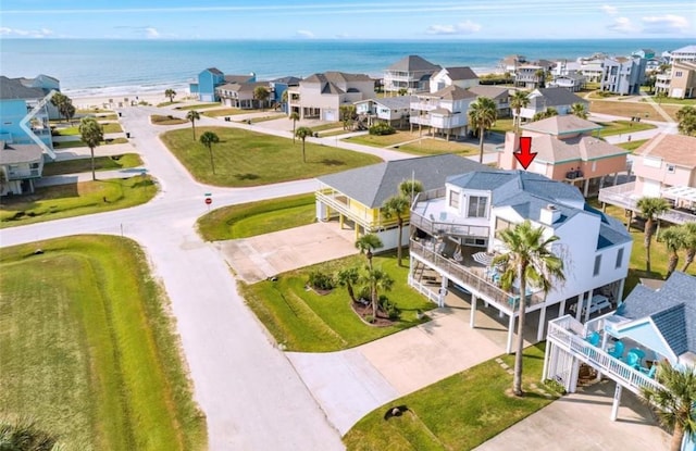
[{"label": "blue-gray shingled roof above the deck with turquoise chairs", "polygon": [[696,277],[675,271],[659,290],[638,285],[625,299],[621,316],[652,318],[674,354],[696,353]]}]

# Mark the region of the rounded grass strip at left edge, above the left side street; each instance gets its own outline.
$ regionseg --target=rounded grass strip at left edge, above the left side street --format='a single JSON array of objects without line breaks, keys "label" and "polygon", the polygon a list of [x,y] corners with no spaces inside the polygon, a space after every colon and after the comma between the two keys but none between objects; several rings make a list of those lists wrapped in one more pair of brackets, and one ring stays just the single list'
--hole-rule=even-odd
[{"label": "rounded grass strip at left edge, above the left side street", "polygon": [[127,209],[148,202],[157,190],[154,179],[141,175],[37,188],[34,195],[2,198],[0,228]]}]

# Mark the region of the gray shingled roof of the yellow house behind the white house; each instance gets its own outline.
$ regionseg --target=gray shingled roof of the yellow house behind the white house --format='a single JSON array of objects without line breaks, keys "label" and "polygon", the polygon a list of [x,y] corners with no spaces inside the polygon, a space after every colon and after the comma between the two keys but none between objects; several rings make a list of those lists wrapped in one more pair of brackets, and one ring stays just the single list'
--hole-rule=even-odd
[{"label": "gray shingled roof of the yellow house behind the white house", "polygon": [[420,156],[373,164],[325,175],[318,179],[371,209],[380,208],[396,195],[399,184],[414,178],[425,190],[442,188],[455,174],[480,171],[487,166],[453,154]]}]

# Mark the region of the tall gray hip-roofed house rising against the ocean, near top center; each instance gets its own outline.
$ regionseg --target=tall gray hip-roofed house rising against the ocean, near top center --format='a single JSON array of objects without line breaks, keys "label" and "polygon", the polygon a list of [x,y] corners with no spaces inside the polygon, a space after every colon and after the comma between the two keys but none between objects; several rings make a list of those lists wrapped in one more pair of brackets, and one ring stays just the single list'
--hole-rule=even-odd
[{"label": "tall gray hip-roofed house rising against the ocean, near top center", "polygon": [[428,91],[431,76],[440,68],[419,55],[405,57],[384,71],[384,91],[394,95],[400,95],[402,90],[406,93]]}]

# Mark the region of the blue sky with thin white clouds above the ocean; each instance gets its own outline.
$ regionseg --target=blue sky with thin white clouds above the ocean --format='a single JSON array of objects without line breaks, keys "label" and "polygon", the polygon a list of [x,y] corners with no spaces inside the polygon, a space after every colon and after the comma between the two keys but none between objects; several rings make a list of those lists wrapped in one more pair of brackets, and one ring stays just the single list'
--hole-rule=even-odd
[{"label": "blue sky with thin white clouds above the ocean", "polygon": [[694,0],[2,0],[1,8],[3,39],[696,38]]}]

